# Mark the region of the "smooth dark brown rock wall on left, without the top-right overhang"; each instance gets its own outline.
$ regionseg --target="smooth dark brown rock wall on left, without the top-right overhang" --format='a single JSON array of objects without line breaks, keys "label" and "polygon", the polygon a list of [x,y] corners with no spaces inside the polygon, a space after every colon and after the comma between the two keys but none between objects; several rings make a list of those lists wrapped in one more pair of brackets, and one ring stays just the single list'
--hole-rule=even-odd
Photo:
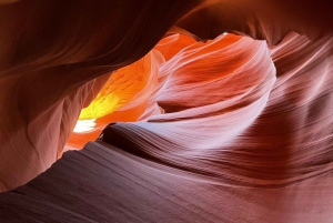
[{"label": "smooth dark brown rock wall on left, without the top-right overhang", "polygon": [[195,3],[28,0],[1,6],[0,191],[27,183],[56,162],[80,110],[110,73],[145,55]]}]

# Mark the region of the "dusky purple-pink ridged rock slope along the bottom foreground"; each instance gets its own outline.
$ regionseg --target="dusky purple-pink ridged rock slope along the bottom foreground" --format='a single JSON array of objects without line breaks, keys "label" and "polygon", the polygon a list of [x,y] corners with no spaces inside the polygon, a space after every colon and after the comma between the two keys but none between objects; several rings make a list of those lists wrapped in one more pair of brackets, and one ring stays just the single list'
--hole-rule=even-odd
[{"label": "dusky purple-pink ridged rock slope along the bottom foreground", "polygon": [[280,189],[219,185],[94,142],[65,153],[27,185],[1,193],[0,217],[3,223],[330,223],[331,178],[327,172]]}]

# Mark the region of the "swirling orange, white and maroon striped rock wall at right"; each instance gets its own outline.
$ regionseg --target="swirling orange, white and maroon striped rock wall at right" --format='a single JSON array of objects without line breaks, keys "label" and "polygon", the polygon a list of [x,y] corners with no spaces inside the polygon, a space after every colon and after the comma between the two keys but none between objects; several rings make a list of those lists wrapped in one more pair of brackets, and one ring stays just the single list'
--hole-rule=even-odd
[{"label": "swirling orange, white and maroon striped rock wall at right", "polygon": [[161,67],[167,113],[112,124],[102,140],[222,184],[274,187],[331,172],[332,43],[290,33],[271,49],[231,34],[191,44]]}]

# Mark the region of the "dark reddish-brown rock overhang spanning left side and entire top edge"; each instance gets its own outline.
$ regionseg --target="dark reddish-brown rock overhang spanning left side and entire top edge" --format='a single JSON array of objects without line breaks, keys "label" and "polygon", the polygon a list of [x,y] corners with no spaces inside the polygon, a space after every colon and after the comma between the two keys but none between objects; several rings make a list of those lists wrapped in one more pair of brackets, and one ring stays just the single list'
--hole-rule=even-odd
[{"label": "dark reddish-brown rock overhang spanning left side and entire top edge", "polygon": [[[270,43],[291,29],[315,39],[333,27],[330,1],[302,1],[302,8],[286,0],[0,3],[1,191],[26,183],[60,158],[79,111],[108,73],[142,58],[173,24],[183,29],[169,33],[209,39],[231,31]],[[150,112],[161,112],[150,103]],[[148,118],[149,112],[142,120]]]}]

